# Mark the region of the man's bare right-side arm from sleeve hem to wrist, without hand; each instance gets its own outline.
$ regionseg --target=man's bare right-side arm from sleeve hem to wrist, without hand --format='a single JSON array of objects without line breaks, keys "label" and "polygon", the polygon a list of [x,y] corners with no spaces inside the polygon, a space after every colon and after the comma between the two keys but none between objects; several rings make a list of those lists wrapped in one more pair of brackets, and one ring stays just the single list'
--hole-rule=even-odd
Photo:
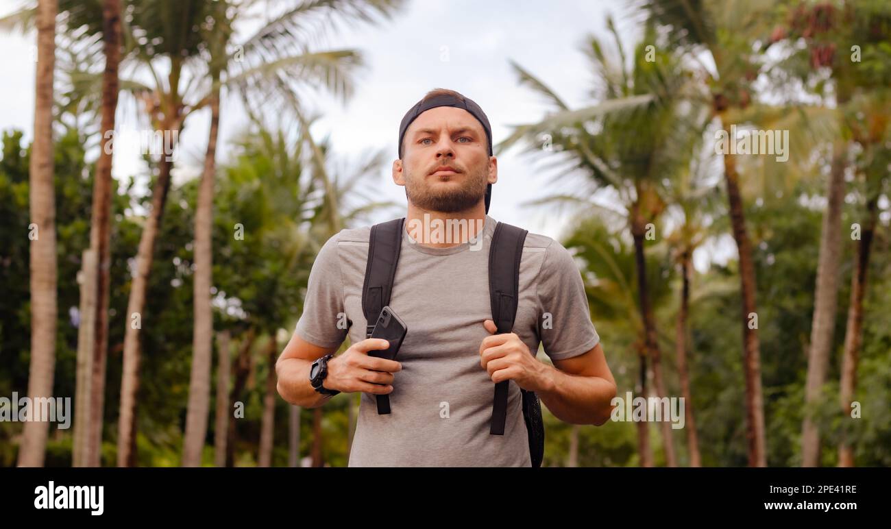
[{"label": "man's bare right-side arm from sleeve hem to wrist, without hand", "polygon": [[570,424],[601,426],[608,421],[617,388],[601,345],[552,362],[543,363],[542,386],[536,392],[548,410]]}]

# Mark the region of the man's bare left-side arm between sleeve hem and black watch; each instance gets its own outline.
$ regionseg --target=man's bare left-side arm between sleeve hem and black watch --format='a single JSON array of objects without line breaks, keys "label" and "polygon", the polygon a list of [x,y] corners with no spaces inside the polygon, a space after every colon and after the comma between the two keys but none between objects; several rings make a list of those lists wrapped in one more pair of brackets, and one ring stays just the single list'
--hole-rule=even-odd
[{"label": "man's bare left-side arm between sleeve hem and black watch", "polygon": [[[325,354],[337,351],[338,348],[315,346],[300,338],[295,332],[275,362],[275,374],[278,378],[276,387],[279,395],[282,395],[285,401],[302,408],[318,408],[328,402],[331,395],[322,395],[309,383],[309,370],[313,362]],[[322,386],[327,387],[325,382]]]}]

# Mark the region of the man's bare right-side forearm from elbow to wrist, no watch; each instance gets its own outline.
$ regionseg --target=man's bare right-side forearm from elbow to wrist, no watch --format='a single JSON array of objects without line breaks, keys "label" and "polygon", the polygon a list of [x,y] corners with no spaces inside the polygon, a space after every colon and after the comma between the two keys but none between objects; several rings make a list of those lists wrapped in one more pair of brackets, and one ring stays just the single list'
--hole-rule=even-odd
[{"label": "man's bare right-side forearm from elbow to wrist, no watch", "polygon": [[597,426],[609,420],[615,384],[606,378],[570,375],[548,364],[544,367],[543,384],[536,393],[557,419]]}]

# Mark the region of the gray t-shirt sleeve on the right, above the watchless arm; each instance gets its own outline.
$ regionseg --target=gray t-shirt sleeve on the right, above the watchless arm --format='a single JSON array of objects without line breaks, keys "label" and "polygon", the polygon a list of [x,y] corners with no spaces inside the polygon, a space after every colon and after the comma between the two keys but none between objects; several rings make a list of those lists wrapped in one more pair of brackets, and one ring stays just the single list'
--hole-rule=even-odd
[{"label": "gray t-shirt sleeve on the right, above the watchless arm", "polygon": [[538,278],[538,332],[544,353],[552,360],[564,360],[587,353],[600,343],[582,273],[556,240],[545,251]]}]

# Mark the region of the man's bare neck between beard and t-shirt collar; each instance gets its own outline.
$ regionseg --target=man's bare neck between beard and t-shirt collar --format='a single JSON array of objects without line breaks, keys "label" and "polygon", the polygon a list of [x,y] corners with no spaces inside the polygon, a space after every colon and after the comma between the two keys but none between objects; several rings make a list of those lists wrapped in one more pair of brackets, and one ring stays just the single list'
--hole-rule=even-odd
[{"label": "man's bare neck between beard and t-shirt collar", "polygon": [[429,211],[409,203],[405,215],[405,232],[429,248],[449,248],[469,242],[485,225],[486,205],[482,200],[473,208],[454,213]]}]

